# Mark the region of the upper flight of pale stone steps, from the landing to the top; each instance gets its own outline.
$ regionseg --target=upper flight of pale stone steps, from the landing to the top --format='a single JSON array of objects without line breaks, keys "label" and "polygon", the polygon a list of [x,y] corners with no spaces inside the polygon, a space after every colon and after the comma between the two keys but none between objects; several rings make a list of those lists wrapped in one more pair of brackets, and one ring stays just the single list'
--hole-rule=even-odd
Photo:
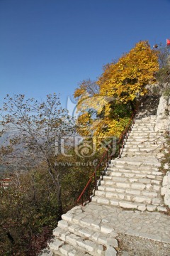
[{"label": "upper flight of pale stone steps, from the landing to the top", "polygon": [[154,132],[156,116],[135,121],[122,157],[111,161],[92,201],[137,210],[166,211],[157,156],[164,137]]}]

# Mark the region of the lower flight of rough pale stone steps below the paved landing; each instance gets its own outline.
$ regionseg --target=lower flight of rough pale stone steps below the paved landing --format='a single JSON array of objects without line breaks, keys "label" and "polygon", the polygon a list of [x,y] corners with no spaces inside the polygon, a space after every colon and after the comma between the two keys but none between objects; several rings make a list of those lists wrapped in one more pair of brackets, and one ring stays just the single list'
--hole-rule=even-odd
[{"label": "lower flight of rough pale stone steps below the paved landing", "polygon": [[[62,215],[62,220],[58,222],[57,228],[53,231],[55,240],[51,242],[51,245],[49,244],[51,251],[57,255],[62,255],[61,253],[63,255],[78,255],[73,252],[69,254],[67,250],[74,250],[77,253],[86,252],[87,255],[107,255],[109,248],[118,248],[118,240],[115,239],[118,234],[114,232],[108,221],[98,219],[98,215],[92,217],[93,213],[91,212],[88,215],[84,214],[82,210],[74,215],[72,210]],[[54,241],[58,247],[54,247]],[[64,245],[67,245],[67,248],[63,248]],[[116,255],[115,249],[112,252],[114,252],[113,255]]]}]

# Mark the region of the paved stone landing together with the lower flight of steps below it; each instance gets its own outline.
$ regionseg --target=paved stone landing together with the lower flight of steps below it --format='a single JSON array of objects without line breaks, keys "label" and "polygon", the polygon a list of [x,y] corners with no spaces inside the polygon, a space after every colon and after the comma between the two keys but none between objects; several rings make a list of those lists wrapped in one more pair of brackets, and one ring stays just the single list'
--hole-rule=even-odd
[{"label": "paved stone landing together with the lower flight of steps below it", "polygon": [[170,216],[163,213],[125,210],[91,202],[62,215],[53,232],[55,238],[50,242],[50,251],[44,252],[43,256],[115,256],[118,250],[116,238],[120,234],[163,242],[170,248],[169,227]]}]

